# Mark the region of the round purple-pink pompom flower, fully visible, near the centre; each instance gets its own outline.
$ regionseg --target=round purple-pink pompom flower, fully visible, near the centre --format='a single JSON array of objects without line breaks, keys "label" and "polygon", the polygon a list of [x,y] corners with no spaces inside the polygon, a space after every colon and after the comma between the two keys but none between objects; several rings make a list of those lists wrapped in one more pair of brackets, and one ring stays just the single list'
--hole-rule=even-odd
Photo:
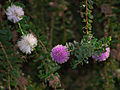
[{"label": "round purple-pink pompom flower, fully visible, near the centre", "polygon": [[68,52],[66,46],[57,45],[52,49],[51,56],[55,62],[62,64],[67,62],[70,53]]}]

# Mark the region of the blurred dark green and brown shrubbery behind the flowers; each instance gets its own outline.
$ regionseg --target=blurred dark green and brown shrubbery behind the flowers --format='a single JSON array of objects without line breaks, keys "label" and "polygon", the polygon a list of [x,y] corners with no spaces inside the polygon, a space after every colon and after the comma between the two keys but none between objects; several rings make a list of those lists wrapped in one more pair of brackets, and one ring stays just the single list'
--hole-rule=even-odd
[{"label": "blurred dark green and brown shrubbery behind the flowers", "polygon": [[[9,0],[10,1],[10,0]],[[120,1],[88,0],[88,30],[103,42],[111,40],[111,55],[104,62],[88,56],[71,56],[64,64],[55,63],[51,49],[66,42],[86,41],[85,0],[11,0],[24,8],[20,21],[25,33],[34,33],[38,46],[31,55],[17,47],[21,33],[7,20],[8,0],[0,0],[0,89],[1,90],[119,90],[120,89]],[[89,36],[88,35],[88,36]],[[95,39],[93,41],[95,41]],[[86,42],[82,43],[85,44]],[[110,44],[110,43],[109,43]],[[82,47],[81,50],[86,47]],[[93,47],[94,48],[94,47]],[[91,47],[89,51],[93,50]],[[77,53],[77,52],[75,52]],[[90,54],[91,55],[91,54]],[[89,57],[89,58],[87,58]],[[81,61],[81,58],[84,61]],[[87,59],[87,60],[86,60]],[[71,63],[72,62],[72,63]],[[78,64],[77,64],[78,63]],[[77,65],[76,65],[77,64]]]}]

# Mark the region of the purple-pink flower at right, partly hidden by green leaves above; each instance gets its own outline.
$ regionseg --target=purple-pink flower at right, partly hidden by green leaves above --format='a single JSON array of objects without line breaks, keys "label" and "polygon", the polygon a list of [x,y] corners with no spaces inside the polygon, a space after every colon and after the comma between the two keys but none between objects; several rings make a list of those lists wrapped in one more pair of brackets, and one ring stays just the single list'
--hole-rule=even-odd
[{"label": "purple-pink flower at right, partly hidden by green leaves above", "polygon": [[105,61],[110,54],[110,48],[107,47],[106,51],[104,53],[101,53],[100,55],[95,56],[94,54],[92,54],[92,58],[94,58],[96,61]]}]

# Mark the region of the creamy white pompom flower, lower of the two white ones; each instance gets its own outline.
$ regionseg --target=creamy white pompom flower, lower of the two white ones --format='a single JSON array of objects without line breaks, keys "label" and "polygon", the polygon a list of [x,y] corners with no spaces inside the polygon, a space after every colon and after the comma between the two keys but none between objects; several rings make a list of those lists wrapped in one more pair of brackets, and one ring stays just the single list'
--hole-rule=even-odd
[{"label": "creamy white pompom flower, lower of the two white ones", "polygon": [[17,42],[19,49],[26,54],[31,54],[37,46],[37,39],[32,34],[23,35],[21,40]]}]

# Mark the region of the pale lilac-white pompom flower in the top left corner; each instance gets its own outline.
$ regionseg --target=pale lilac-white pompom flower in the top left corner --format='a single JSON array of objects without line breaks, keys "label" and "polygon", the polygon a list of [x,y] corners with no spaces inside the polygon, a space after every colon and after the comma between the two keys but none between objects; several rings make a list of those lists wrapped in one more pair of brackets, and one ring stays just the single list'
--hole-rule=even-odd
[{"label": "pale lilac-white pompom flower in the top left corner", "polygon": [[6,15],[8,17],[8,20],[17,23],[23,19],[22,16],[24,15],[24,11],[20,6],[11,5],[7,8]]}]

